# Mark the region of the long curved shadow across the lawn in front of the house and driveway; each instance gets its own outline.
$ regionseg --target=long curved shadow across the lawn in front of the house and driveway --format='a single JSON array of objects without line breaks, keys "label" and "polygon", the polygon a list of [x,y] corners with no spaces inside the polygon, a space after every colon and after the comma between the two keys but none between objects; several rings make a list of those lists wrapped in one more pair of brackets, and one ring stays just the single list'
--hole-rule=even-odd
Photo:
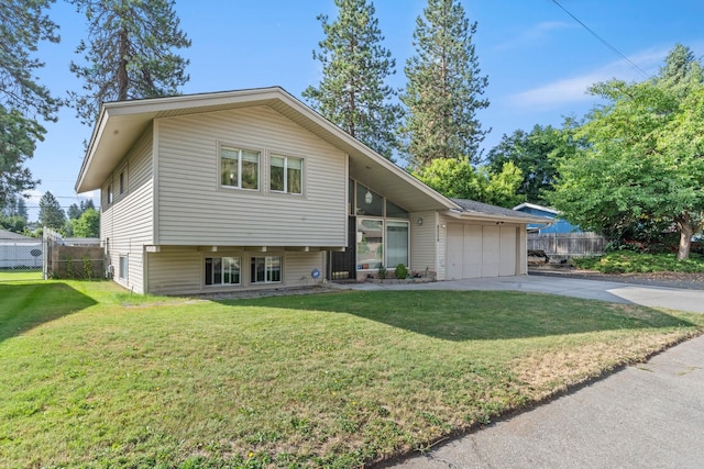
[{"label": "long curved shadow across the lawn in front of the house and driveway", "polygon": [[695,327],[647,306],[513,291],[373,291],[223,301],[229,305],[352,314],[446,340]]}]

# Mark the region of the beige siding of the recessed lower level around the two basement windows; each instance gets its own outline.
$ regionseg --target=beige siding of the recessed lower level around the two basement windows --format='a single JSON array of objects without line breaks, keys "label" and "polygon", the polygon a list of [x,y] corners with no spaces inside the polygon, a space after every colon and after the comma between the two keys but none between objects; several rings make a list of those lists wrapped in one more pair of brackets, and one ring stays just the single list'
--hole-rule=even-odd
[{"label": "beige siding of the recessed lower level around the two basement windows", "polygon": [[[206,257],[224,256],[240,258],[241,283],[239,286],[205,286]],[[262,256],[282,256],[280,283],[251,283],[251,259]],[[320,270],[318,280],[311,278],[312,269]],[[158,253],[147,253],[147,271],[150,293],[154,294],[227,293],[252,289],[310,287],[319,283],[324,276],[324,252],[256,253],[246,248],[219,248],[217,252],[208,252],[196,246],[162,246]]]}]

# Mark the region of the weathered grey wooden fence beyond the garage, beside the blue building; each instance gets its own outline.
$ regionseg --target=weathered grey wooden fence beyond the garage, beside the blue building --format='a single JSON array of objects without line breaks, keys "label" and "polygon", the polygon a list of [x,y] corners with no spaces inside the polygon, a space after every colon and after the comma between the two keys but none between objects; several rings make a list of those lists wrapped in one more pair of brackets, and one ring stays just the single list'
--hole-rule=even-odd
[{"label": "weathered grey wooden fence beyond the garage, beside the blue building", "polygon": [[596,233],[528,233],[528,250],[548,256],[600,256],[607,241]]}]

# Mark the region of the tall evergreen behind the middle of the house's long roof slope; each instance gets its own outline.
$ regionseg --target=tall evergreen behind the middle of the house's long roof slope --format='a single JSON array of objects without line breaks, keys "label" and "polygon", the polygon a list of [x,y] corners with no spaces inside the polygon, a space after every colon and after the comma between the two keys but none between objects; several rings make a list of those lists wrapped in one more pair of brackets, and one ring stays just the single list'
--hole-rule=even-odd
[{"label": "tall evergreen behind the middle of the house's long roof slope", "polygon": [[302,96],[326,119],[386,158],[397,147],[395,129],[402,115],[392,103],[396,90],[385,85],[396,62],[382,42],[384,36],[366,0],[336,0],[338,18],[319,15],[326,34],[314,51],[322,64],[322,80]]}]

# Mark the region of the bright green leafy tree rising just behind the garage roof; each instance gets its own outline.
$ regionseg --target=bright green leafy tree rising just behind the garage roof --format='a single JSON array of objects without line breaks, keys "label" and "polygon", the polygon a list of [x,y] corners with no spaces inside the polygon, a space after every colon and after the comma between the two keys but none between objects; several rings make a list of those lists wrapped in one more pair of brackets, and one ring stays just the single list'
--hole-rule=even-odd
[{"label": "bright green leafy tree rising just behind the garage roof", "polygon": [[517,194],[522,181],[520,169],[512,161],[501,172],[474,168],[468,159],[437,158],[413,172],[417,179],[449,198],[470,199],[505,208],[524,201]]}]

